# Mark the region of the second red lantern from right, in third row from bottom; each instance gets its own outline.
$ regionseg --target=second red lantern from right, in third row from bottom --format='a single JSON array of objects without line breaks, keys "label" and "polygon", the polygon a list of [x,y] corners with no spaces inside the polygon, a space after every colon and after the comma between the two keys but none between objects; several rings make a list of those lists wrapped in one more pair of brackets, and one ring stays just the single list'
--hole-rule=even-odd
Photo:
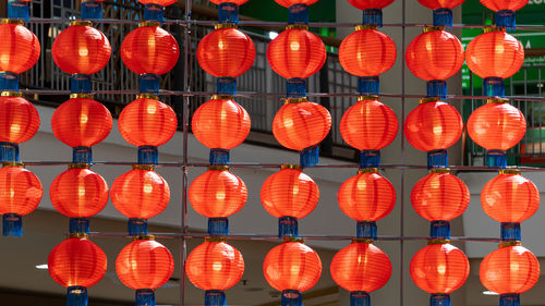
[{"label": "second red lantern from right, in third row from bottom", "polygon": [[463,132],[462,117],[456,108],[432,99],[423,99],[405,120],[407,140],[422,151],[447,149],[460,139]]}]

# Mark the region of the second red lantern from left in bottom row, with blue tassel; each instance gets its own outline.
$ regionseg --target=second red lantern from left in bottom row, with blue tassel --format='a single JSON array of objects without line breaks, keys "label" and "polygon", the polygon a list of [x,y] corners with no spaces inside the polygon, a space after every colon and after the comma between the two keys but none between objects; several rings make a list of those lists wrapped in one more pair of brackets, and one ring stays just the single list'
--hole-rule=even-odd
[{"label": "second red lantern from left in bottom row, with blue tassel", "polygon": [[155,305],[155,290],[172,276],[174,259],[154,236],[141,236],[121,249],[116,271],[124,285],[136,290],[136,306]]}]

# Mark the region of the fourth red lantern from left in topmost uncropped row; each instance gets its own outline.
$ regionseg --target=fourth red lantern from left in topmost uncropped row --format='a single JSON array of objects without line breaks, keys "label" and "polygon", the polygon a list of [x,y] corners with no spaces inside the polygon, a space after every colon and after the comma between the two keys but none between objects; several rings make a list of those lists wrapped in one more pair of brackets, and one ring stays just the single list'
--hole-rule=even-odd
[{"label": "fourth red lantern from left in topmost uncropped row", "polygon": [[198,42],[197,60],[204,71],[216,77],[237,77],[254,63],[255,46],[237,28],[218,28]]}]

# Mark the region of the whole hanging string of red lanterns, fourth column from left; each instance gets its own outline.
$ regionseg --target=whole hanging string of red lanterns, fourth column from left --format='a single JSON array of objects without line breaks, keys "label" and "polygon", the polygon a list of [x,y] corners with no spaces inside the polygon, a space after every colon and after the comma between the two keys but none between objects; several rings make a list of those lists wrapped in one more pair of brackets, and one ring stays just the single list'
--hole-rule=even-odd
[{"label": "whole hanging string of red lanterns, fourth column from left", "polygon": [[246,72],[255,59],[252,39],[239,30],[239,5],[247,0],[213,0],[219,5],[215,30],[197,47],[197,60],[207,73],[217,77],[217,94],[193,114],[195,137],[210,149],[210,167],[193,180],[189,189],[192,207],[208,218],[208,237],[187,257],[185,272],[190,281],[205,290],[206,306],[227,305],[225,291],[244,273],[242,254],[226,243],[228,217],[246,204],[244,182],[229,171],[229,150],[250,133],[250,115],[233,98],[237,76]]}]

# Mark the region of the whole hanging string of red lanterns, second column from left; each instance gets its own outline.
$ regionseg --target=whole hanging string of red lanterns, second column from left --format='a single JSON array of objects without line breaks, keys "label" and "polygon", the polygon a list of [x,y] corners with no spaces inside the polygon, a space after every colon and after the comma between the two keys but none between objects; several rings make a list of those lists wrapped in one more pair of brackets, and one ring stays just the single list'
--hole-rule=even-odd
[{"label": "whole hanging string of red lanterns, second column from left", "polygon": [[68,306],[87,305],[87,287],[100,281],[107,269],[106,254],[88,240],[88,218],[108,203],[108,184],[90,167],[92,146],[108,136],[112,118],[93,99],[90,75],[106,66],[111,47],[88,21],[100,20],[100,3],[84,2],[88,3],[82,3],[82,20],[62,30],[51,48],[55,63],[71,75],[70,99],[55,111],[51,130],[72,147],[72,163],[50,187],[51,204],[70,218],[70,234],[48,258],[51,278],[66,287]]}]

